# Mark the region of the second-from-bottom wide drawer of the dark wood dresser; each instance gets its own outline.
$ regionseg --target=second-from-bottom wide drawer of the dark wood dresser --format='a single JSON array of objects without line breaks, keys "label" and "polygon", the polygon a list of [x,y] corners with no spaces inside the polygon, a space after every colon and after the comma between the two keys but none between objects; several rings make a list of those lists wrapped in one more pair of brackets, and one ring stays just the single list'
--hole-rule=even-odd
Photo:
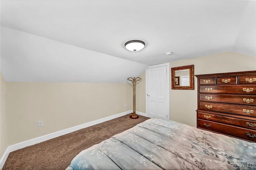
[{"label": "second-from-bottom wide drawer of the dark wood dresser", "polygon": [[247,119],[239,119],[234,117],[222,116],[222,115],[214,115],[209,113],[197,113],[198,119],[209,120],[214,122],[223,123],[225,125],[234,125],[238,127],[251,128],[256,130],[256,121],[251,121]]}]

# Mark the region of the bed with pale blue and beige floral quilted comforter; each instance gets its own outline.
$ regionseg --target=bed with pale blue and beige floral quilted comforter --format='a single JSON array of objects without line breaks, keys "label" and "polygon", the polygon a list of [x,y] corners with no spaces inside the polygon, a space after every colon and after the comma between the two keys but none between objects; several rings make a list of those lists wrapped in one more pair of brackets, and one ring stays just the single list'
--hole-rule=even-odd
[{"label": "bed with pale blue and beige floral quilted comforter", "polygon": [[256,143],[148,119],[80,152],[66,170],[254,169]]}]

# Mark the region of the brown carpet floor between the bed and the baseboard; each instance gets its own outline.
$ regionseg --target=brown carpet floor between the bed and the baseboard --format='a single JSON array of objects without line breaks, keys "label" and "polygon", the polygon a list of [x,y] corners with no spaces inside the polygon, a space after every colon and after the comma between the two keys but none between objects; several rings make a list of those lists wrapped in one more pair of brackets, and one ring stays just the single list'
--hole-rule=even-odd
[{"label": "brown carpet floor between the bed and the baseboard", "polygon": [[65,170],[80,151],[149,119],[130,115],[11,152],[2,170]]}]

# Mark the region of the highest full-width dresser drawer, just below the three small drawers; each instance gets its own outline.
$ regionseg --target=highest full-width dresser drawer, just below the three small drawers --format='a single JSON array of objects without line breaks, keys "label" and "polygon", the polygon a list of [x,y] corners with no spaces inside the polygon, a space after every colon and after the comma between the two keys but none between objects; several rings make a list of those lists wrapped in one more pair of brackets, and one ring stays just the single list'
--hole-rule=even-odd
[{"label": "highest full-width dresser drawer, just below the three small drawers", "polygon": [[255,95],[256,85],[201,85],[199,93],[229,93]]}]

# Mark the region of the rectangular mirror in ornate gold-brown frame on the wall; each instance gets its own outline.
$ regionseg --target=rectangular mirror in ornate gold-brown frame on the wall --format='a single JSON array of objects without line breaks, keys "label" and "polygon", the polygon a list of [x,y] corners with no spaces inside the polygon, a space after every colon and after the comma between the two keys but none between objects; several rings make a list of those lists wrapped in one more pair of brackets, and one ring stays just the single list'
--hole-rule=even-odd
[{"label": "rectangular mirror in ornate gold-brown frame on the wall", "polygon": [[171,68],[172,89],[194,90],[194,65]]}]

